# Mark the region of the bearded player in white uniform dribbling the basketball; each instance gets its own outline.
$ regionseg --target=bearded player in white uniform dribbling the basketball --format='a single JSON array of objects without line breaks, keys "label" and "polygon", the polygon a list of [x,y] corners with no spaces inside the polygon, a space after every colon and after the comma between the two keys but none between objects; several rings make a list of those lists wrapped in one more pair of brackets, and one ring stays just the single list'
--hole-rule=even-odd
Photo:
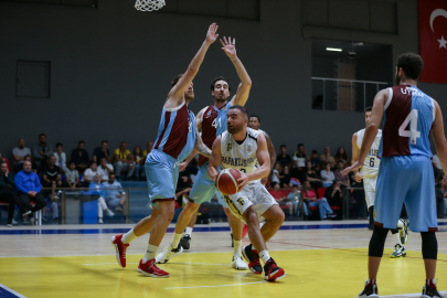
[{"label": "bearded player in white uniform dribbling the basketball", "polygon": [[[248,267],[255,274],[262,274],[259,258],[264,262],[265,279],[274,281],[286,276],[268,255],[266,242],[279,230],[284,222],[284,212],[276,200],[260,184],[260,179],[270,172],[267,141],[259,131],[247,128],[248,113],[243,106],[228,109],[227,131],[219,136],[212,148],[207,173],[211,179],[222,169],[237,169],[242,177],[237,180],[240,192],[224,195],[231,212],[248,225],[252,244],[242,249]],[[267,223],[259,230],[259,222]],[[259,252],[259,253],[258,253]]]}]

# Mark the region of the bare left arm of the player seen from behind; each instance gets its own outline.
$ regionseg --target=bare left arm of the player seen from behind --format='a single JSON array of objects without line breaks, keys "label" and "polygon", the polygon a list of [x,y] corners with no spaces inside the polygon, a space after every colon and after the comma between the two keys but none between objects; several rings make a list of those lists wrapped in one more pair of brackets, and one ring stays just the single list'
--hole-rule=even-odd
[{"label": "bare left arm of the player seen from behind", "polygon": [[349,168],[341,171],[343,175],[348,174],[350,171],[356,170],[363,167],[364,159],[370,151],[372,143],[374,142],[375,136],[377,135],[379,126],[383,118],[383,113],[385,111],[385,103],[389,99],[390,91],[383,89],[377,93],[374,98],[374,105],[371,111],[371,120],[366,125],[364,131],[362,146],[360,149],[358,160]]}]

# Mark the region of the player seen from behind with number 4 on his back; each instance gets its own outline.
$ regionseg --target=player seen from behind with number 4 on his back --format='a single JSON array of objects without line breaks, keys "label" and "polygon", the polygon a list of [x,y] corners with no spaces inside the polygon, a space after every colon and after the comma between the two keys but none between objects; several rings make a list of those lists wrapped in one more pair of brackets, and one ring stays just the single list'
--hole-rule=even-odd
[{"label": "player seen from behind with number 4 on his back", "polygon": [[423,64],[421,56],[413,53],[398,56],[397,86],[375,96],[359,159],[342,171],[348,174],[363,166],[382,123],[379,152],[382,159],[374,202],[374,232],[369,248],[369,279],[359,298],[379,297],[376,278],[386,235],[390,228],[396,227],[404,202],[409,228],[422,236],[426,280],[421,297],[444,298],[435,283],[438,252],[435,232],[438,228],[429,135],[433,132],[444,170],[447,170],[447,141],[439,105],[417,88]]}]

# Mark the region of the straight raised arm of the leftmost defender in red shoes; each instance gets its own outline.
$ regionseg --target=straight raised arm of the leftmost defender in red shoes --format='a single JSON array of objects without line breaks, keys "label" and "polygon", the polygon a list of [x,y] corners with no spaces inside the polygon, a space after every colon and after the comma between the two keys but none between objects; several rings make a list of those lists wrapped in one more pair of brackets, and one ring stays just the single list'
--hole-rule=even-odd
[{"label": "straight raised arm of the leftmost defender in red shoes", "polygon": [[198,74],[200,65],[203,62],[205,53],[210,45],[217,39],[219,34],[216,34],[217,25],[212,23],[207,30],[206,39],[203,42],[202,46],[199,49],[199,52],[195,54],[193,60],[191,61],[190,65],[188,66],[187,72],[184,72],[183,76],[179,79],[175,86],[172,87],[168,95],[168,99],[164,104],[164,108],[175,108],[183,102],[183,94],[187,88],[190,86],[192,79]]}]

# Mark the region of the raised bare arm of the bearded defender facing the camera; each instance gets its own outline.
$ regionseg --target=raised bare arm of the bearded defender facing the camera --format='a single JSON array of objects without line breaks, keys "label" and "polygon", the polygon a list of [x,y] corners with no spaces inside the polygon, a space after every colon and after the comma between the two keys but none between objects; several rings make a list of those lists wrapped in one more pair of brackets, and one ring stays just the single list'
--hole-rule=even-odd
[{"label": "raised bare arm of the bearded defender facing the camera", "polygon": [[228,40],[226,40],[226,38],[224,38],[223,41],[221,40],[221,44],[223,46],[222,50],[233,62],[233,65],[237,72],[237,76],[241,79],[241,84],[237,87],[236,95],[232,98],[232,105],[243,106],[248,99],[249,89],[252,88],[252,79],[249,78],[248,73],[242,64],[241,60],[236,55],[235,43],[236,39],[233,39],[232,41],[232,38],[228,38]]}]

